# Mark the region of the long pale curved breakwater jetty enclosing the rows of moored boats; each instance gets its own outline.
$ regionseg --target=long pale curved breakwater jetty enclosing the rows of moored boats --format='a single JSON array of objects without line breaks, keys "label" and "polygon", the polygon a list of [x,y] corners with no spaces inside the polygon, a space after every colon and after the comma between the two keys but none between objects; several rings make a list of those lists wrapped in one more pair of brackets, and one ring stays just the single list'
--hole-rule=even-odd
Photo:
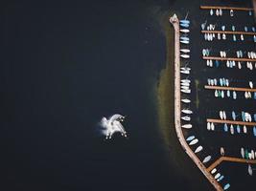
[{"label": "long pale curved breakwater jetty enclosing the rows of moored boats", "polygon": [[181,101],[180,101],[180,45],[179,45],[179,20],[174,14],[170,17],[170,23],[175,29],[175,132],[177,138],[187,153],[187,155],[197,164],[198,169],[204,174],[204,176],[213,184],[217,190],[223,190],[221,185],[214,177],[207,171],[204,164],[198,159],[194,151],[189,147],[181,129],[180,112],[181,112]]}]

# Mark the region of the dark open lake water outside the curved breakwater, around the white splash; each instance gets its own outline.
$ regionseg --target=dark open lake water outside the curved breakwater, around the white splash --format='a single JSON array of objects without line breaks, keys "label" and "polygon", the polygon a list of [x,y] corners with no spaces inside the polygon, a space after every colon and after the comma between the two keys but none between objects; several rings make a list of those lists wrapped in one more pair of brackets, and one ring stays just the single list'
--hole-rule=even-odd
[{"label": "dark open lake water outside the curved breakwater, around the white splash", "polygon": [[[200,172],[185,176],[170,163],[157,123],[153,87],[166,39],[155,17],[170,10],[184,16],[180,4],[3,5],[2,190],[212,188]],[[99,122],[115,113],[127,116],[128,138],[105,141]]]}]

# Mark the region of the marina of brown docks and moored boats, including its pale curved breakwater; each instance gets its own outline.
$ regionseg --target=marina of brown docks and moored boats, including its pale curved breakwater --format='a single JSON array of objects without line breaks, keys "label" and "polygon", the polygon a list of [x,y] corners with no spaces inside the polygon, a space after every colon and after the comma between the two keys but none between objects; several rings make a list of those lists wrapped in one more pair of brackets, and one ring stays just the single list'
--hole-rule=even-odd
[{"label": "marina of brown docks and moored boats, including its pale curved breakwater", "polygon": [[[170,22],[175,28],[175,131],[185,152],[213,186],[217,190],[227,190],[230,187],[233,189],[236,187],[233,187],[232,184],[237,185],[231,179],[234,175],[228,174],[223,166],[232,164],[235,167],[249,164],[244,168],[244,173],[253,176],[252,166],[256,164],[255,149],[243,149],[242,158],[236,156],[237,150],[235,149],[236,147],[241,148],[242,145],[253,146],[252,142],[255,141],[253,138],[256,136],[256,120],[253,115],[256,111],[252,107],[253,101],[256,99],[256,89],[253,88],[254,81],[252,80],[255,78],[253,69],[256,69],[256,32],[255,24],[252,24],[254,23],[253,9],[233,6],[199,6],[199,9],[202,11],[202,15],[206,16],[206,18],[201,18],[202,30],[197,31],[202,35],[200,62],[207,61],[207,68],[198,63],[194,65],[196,56],[191,54],[193,53],[191,47],[195,46],[193,36],[198,35],[195,29],[195,32],[190,29],[192,23],[190,19],[193,16],[187,19],[186,15],[185,19],[181,19],[181,24],[176,15],[170,18]],[[208,11],[208,15],[204,11]],[[228,23],[221,22],[219,24],[220,20],[217,20],[217,17],[220,16],[233,18],[243,14],[247,14],[251,18],[250,23],[244,24],[243,27],[238,22],[236,23],[238,27],[235,27],[230,24],[228,26]],[[203,19],[205,20],[203,21]],[[219,28],[221,26],[221,30],[215,31],[216,26]],[[204,30],[205,28],[207,30]],[[183,36],[184,30],[186,30],[185,37]],[[219,41],[213,41],[217,38]],[[233,43],[234,46],[228,45],[224,49],[227,45],[224,44],[226,42],[230,45]],[[241,49],[244,50],[241,51]],[[196,52],[194,53],[196,54]],[[216,56],[217,53],[220,53],[221,56]],[[195,68],[197,68],[196,71]],[[236,70],[227,72],[227,68],[243,70],[247,76],[236,74]],[[249,70],[245,72],[244,68]],[[200,74],[201,72],[204,74]],[[188,79],[189,82],[185,82],[185,79],[181,81],[180,75]],[[247,80],[247,78],[249,79]],[[212,91],[214,91],[214,96],[210,94]],[[221,99],[216,99],[216,97],[221,97]],[[229,97],[231,99],[228,99]],[[236,104],[233,103],[235,100]],[[216,110],[221,107],[223,109],[217,115]],[[244,110],[248,110],[248,112],[244,112]],[[231,115],[229,116],[229,114]],[[219,132],[219,134],[214,134],[214,132]],[[225,132],[230,133],[224,134]],[[201,138],[202,134],[205,135],[204,138]],[[215,139],[215,141],[209,140],[208,142],[206,138]],[[230,140],[239,138],[240,141],[238,144],[225,143],[222,138]],[[207,148],[205,145],[211,146]],[[219,152],[216,152],[217,150]],[[215,153],[220,154],[216,155]]]}]

